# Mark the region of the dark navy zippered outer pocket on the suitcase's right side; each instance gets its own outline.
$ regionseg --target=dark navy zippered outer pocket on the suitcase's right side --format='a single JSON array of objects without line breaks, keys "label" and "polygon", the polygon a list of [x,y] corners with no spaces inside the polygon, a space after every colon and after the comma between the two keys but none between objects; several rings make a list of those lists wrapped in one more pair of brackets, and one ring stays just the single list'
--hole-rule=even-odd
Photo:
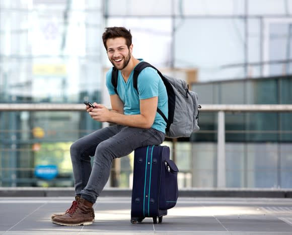
[{"label": "dark navy zippered outer pocket on the suitcase's right side", "polygon": [[176,205],[178,198],[178,168],[172,160],[164,160],[160,184],[159,208],[167,210]]}]

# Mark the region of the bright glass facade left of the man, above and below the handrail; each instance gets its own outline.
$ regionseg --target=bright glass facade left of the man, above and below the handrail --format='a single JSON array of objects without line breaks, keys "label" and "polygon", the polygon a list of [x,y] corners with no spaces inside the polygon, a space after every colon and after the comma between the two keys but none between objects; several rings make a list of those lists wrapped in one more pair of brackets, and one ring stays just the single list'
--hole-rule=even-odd
[{"label": "bright glass facade left of the man, above and below the handrail", "polygon": [[[101,102],[102,30],[101,1],[1,0],[0,102]],[[70,144],[100,127],[84,112],[1,111],[0,185],[72,186]],[[36,177],[47,165],[54,180]]]}]

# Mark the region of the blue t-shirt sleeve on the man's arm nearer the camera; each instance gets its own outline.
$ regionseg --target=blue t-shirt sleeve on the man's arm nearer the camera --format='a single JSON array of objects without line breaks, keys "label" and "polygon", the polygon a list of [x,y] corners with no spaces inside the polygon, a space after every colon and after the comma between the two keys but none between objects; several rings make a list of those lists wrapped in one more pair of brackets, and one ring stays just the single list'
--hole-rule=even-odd
[{"label": "blue t-shirt sleeve on the man's arm nearer the camera", "polygon": [[161,77],[155,69],[151,67],[143,69],[137,81],[139,99],[149,99],[158,96],[160,79]]}]

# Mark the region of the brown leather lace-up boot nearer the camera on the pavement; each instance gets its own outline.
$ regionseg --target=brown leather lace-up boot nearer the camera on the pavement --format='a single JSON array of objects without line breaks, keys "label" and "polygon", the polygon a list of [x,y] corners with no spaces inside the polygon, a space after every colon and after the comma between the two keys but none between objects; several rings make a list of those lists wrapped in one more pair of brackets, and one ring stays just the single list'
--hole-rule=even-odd
[{"label": "brown leather lace-up boot nearer the camera on the pavement", "polygon": [[54,217],[52,222],[65,226],[90,225],[93,219],[92,206],[91,202],[81,197],[64,215]]}]

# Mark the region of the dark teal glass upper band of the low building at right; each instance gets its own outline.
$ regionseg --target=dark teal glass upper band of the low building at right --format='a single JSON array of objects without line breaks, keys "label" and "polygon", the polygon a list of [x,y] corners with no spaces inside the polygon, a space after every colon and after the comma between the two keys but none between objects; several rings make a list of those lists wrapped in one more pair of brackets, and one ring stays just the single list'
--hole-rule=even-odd
[{"label": "dark teal glass upper band of the low building at right", "polygon": [[[196,83],[193,89],[208,104],[291,104],[292,77],[226,80]],[[231,98],[232,97],[232,98]],[[217,113],[201,113],[203,130],[216,130]],[[292,113],[226,113],[227,142],[292,142]],[[217,136],[200,132],[196,141],[216,141]]]}]

